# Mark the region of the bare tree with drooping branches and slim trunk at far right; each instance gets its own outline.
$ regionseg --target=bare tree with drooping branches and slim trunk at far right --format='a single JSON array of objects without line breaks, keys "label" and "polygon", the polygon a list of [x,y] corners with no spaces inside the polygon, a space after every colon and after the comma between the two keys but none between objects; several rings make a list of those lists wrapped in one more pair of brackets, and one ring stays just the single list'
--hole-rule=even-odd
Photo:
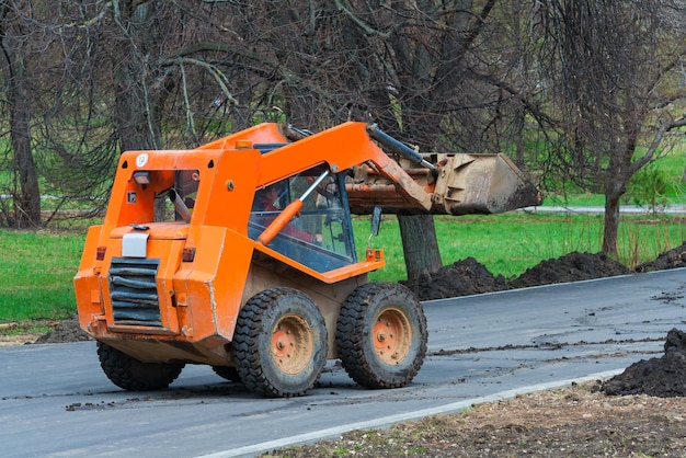
[{"label": "bare tree with drooping branches and slim trunk at far right", "polygon": [[579,181],[601,184],[603,251],[616,255],[629,180],[685,125],[677,103],[686,99],[686,10],[672,0],[539,4],[547,44],[540,62],[563,129],[557,161]]}]

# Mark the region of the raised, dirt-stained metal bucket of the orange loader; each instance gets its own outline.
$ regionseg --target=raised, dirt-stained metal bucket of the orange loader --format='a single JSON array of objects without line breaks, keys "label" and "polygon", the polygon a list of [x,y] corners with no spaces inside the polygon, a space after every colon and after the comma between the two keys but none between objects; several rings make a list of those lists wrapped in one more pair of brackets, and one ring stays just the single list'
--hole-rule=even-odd
[{"label": "raised, dirt-stained metal bucket of the orange loader", "polygon": [[459,153],[436,179],[433,214],[499,214],[539,205],[540,192],[504,154]]}]

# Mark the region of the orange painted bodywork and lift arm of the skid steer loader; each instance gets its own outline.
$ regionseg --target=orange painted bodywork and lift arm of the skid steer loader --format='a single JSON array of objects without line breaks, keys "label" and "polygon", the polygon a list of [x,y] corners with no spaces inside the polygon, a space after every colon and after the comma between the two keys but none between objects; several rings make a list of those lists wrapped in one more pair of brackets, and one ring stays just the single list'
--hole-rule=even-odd
[{"label": "orange painted bodywork and lift arm of the skid steer loader", "polygon": [[[251,148],[286,142],[276,125],[263,124],[195,150],[123,153],[104,221],[89,230],[75,278],[81,327],[144,362],[227,365],[227,344],[240,308],[261,289],[283,284],[309,285],[305,289],[318,298],[327,323],[334,325],[345,299],[341,291],[350,294],[367,282],[367,272],[385,265],[381,252],[324,272],[302,265],[268,245],[302,203],[282,217],[262,244],[248,233],[255,193],[318,164],[335,172],[370,159],[392,161],[358,123],[271,152]],[[156,221],[156,197],[178,185],[181,171],[192,174],[196,185],[190,220]],[[140,183],[139,174],[145,174]],[[125,253],[130,247],[133,255]],[[139,263],[150,270],[145,291],[155,298],[127,302],[127,285],[139,278],[130,272]],[[114,270],[124,274],[112,274]],[[350,286],[327,286],[335,284]],[[122,295],[128,295],[125,302],[118,299]],[[329,348],[329,354],[335,352]]]}]

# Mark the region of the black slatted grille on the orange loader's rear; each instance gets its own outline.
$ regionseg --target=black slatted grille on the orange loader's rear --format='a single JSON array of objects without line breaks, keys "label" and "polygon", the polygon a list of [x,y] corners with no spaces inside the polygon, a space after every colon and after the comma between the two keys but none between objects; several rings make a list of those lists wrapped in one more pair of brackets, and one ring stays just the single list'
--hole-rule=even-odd
[{"label": "black slatted grille on the orange loader's rear", "polygon": [[115,324],[161,327],[157,293],[160,260],[114,257],[110,266],[110,298]]}]

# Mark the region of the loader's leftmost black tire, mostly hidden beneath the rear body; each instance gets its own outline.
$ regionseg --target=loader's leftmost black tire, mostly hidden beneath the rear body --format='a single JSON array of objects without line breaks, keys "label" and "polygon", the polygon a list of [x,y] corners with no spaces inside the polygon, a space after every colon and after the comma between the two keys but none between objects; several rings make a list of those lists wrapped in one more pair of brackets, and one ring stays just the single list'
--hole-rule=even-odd
[{"label": "loader's leftmost black tire, mostly hidden beneath the rear body", "polygon": [[182,363],[141,363],[102,342],[98,342],[98,358],[107,378],[128,391],[167,388],[185,366]]}]

